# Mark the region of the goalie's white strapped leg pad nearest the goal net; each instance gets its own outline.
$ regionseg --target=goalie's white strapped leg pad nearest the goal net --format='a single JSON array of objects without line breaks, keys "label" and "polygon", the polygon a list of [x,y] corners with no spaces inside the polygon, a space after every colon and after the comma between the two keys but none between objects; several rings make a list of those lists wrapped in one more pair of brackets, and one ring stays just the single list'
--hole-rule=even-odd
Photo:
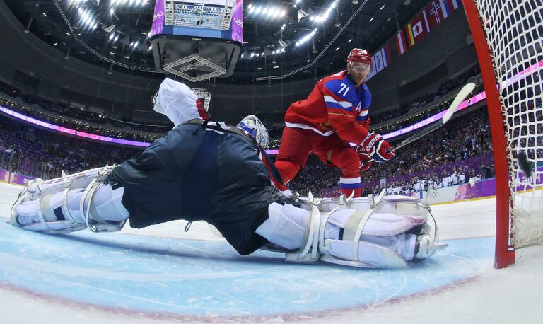
[{"label": "goalie's white strapped leg pad nearest the goal net", "polygon": [[[358,202],[351,206],[363,206],[361,199],[353,200]],[[423,225],[428,221],[429,208],[419,199],[383,197],[383,192],[375,200],[366,199],[366,204],[366,210],[344,209],[349,202],[338,204],[335,212],[327,214],[322,227],[334,225],[344,231],[341,239],[321,233],[321,260],[356,267],[406,267],[419,241],[414,233],[405,232],[416,226],[421,231],[427,229]]]}]

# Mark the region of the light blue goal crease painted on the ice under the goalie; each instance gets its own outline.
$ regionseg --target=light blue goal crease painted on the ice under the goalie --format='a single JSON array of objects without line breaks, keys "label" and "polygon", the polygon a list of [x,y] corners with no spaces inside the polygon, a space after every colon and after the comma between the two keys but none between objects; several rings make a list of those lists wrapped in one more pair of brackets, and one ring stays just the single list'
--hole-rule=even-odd
[{"label": "light blue goal crease painted on the ice under the goalie", "polygon": [[0,282],[110,311],[185,319],[306,318],[399,301],[493,269],[494,238],[448,243],[405,270],[365,270],[289,264],[266,251],[243,257],[226,241],[88,231],[53,236],[2,222]]}]

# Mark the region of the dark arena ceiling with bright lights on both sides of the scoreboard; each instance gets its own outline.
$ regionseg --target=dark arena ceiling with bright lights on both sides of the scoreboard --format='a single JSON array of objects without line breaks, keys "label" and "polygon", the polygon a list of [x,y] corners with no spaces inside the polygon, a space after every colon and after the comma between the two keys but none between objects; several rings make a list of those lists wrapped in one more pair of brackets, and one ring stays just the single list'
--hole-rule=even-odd
[{"label": "dark arena ceiling with bright lights on both sides of the scoreboard", "polygon": [[[232,78],[218,82],[250,83],[295,70],[300,70],[295,75],[297,79],[307,79],[314,73],[336,71],[344,66],[352,47],[377,50],[428,3],[428,0],[339,0],[334,6],[336,1],[245,0],[243,57],[238,60]],[[66,57],[127,74],[156,72],[148,40],[153,0],[4,2],[26,33],[33,33]],[[282,14],[257,14],[264,8],[277,8]],[[315,28],[313,39],[298,43]],[[284,52],[276,53],[281,48]]]}]

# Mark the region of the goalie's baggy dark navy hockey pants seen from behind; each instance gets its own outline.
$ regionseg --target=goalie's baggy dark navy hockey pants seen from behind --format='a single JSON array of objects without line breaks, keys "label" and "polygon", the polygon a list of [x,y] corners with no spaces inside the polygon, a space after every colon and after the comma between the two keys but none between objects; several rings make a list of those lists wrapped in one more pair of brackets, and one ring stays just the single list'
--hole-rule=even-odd
[{"label": "goalie's baggy dark navy hockey pants seen from behind", "polygon": [[276,190],[250,140],[220,127],[183,124],[124,161],[108,180],[124,186],[130,226],[185,219],[213,224],[242,255],[267,241],[255,230]]}]

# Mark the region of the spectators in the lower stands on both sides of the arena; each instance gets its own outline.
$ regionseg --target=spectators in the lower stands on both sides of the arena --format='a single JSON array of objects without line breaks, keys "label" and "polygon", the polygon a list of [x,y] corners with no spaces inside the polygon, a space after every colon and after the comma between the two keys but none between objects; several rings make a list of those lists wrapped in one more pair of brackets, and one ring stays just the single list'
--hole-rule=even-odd
[{"label": "spectators in the lower stands on both sides of the arena", "polygon": [[[465,118],[469,118],[469,123]],[[140,147],[84,141],[0,118],[0,168],[14,173],[55,178],[60,170],[74,173],[120,163],[141,151]],[[446,187],[470,179],[491,178],[494,166],[490,152],[488,116],[486,109],[479,108],[452,120],[432,136],[400,149],[391,161],[373,163],[362,173],[363,192],[378,192],[381,179],[387,179],[389,192],[406,194],[427,190],[429,186]],[[315,195],[335,197],[339,195],[339,177],[339,169],[325,166],[312,155],[288,185],[302,195],[312,190]]]}]

